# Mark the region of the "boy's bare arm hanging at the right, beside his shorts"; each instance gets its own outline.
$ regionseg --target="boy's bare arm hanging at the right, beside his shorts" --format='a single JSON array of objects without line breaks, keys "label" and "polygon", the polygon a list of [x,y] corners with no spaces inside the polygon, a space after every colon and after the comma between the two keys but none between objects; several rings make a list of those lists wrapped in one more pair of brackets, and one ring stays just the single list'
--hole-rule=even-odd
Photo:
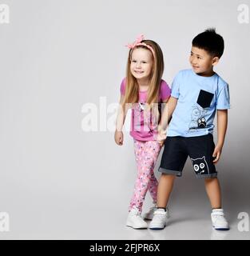
[{"label": "boy's bare arm hanging at the right, beside his shorts", "polygon": [[214,163],[220,159],[220,154],[224,145],[224,138],[228,127],[228,110],[217,110],[217,144],[212,156]]}]

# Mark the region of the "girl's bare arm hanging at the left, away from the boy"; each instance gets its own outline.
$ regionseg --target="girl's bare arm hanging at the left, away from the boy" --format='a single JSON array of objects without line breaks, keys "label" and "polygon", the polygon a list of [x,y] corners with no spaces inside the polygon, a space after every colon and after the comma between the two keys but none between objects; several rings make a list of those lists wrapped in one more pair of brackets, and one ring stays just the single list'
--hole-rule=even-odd
[{"label": "girl's bare arm hanging at the left, away from the boy", "polygon": [[122,133],[122,127],[125,122],[125,117],[127,114],[127,110],[125,110],[125,107],[122,106],[122,102],[124,100],[124,95],[121,95],[118,112],[117,112],[117,122],[116,122],[116,131],[114,134],[114,140],[117,143],[117,145],[123,144],[123,133]]}]

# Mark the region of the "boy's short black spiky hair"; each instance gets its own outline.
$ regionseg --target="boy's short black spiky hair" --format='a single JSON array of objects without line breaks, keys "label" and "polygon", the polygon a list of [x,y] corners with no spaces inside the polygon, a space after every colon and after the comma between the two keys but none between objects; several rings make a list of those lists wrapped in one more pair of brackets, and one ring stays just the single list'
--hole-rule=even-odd
[{"label": "boy's short black spiky hair", "polygon": [[224,52],[224,39],[215,28],[208,28],[192,39],[192,46],[206,50],[213,57],[220,58]]}]

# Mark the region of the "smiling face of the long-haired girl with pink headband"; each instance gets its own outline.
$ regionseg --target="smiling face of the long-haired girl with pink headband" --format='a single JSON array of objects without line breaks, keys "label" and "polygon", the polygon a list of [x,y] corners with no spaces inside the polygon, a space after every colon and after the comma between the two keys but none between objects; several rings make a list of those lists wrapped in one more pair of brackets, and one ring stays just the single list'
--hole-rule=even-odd
[{"label": "smiling face of the long-haired girl with pink headband", "polygon": [[130,62],[130,72],[137,80],[149,78],[153,68],[153,55],[150,50],[136,48],[133,50]]}]

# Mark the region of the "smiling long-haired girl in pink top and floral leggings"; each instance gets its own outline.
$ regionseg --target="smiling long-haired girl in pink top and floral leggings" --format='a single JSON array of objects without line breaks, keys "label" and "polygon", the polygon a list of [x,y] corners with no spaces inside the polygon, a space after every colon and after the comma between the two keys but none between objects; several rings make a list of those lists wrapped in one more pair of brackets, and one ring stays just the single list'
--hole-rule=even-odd
[{"label": "smiling long-haired girl in pink top and floral leggings", "polygon": [[[159,105],[168,101],[170,89],[168,84],[161,80],[164,59],[160,46],[152,40],[144,40],[143,35],[127,46],[130,50],[126,77],[121,82],[120,108],[114,139],[117,145],[123,144],[122,127],[127,110],[131,108],[130,135],[134,141],[137,180],[126,225],[141,229],[147,228],[147,222],[141,218],[147,190],[153,198],[153,203],[157,203],[158,182],[153,170],[161,151],[161,144],[157,142],[157,126],[161,116]],[[153,218],[153,209],[145,217]]]}]

